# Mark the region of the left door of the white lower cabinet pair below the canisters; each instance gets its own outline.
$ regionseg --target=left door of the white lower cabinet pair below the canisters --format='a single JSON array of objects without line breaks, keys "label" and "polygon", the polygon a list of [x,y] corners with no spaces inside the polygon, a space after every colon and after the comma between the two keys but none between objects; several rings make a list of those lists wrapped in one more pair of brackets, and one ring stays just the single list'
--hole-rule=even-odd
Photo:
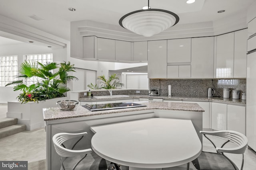
[{"label": "left door of the white lower cabinet pair below the canisters", "polygon": [[227,130],[227,104],[212,103],[212,129]]}]

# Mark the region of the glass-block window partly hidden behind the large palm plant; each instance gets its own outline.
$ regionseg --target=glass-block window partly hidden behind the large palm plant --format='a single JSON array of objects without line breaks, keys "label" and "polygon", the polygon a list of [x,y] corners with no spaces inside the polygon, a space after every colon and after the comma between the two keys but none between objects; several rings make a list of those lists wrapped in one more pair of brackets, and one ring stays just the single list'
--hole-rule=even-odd
[{"label": "glass-block window partly hidden behind the large palm plant", "polygon": [[[36,63],[37,61],[39,63],[45,64],[46,62],[53,62],[52,54],[33,54],[33,55],[25,55],[25,61],[28,61],[30,63]],[[27,85],[30,86],[31,84],[36,84],[37,82],[42,81],[42,78],[28,78],[26,80]]]}]

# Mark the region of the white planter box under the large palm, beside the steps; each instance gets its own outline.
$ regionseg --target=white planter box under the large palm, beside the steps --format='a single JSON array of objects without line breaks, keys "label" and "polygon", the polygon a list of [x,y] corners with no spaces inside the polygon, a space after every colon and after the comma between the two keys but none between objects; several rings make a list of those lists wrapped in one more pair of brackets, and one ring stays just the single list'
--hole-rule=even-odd
[{"label": "white planter box under the large palm, beside the steps", "polygon": [[54,98],[46,101],[23,103],[11,101],[8,103],[6,117],[18,118],[18,124],[25,124],[26,130],[32,131],[44,127],[43,108],[57,107],[56,102],[67,100],[67,97]]}]

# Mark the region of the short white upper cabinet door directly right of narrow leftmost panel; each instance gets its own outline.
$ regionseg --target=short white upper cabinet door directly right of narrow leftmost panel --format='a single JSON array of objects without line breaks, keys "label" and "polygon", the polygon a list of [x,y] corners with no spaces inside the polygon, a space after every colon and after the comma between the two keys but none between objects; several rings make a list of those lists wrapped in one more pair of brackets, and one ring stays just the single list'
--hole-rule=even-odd
[{"label": "short white upper cabinet door directly right of narrow leftmost panel", "polygon": [[115,60],[115,40],[98,38],[97,59]]}]

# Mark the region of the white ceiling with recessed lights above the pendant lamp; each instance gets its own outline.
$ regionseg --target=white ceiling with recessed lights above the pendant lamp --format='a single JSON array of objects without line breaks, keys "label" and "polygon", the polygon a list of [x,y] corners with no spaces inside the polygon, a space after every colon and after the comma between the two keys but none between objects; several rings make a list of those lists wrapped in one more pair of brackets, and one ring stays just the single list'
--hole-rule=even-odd
[{"label": "white ceiling with recessed lights above the pendant lamp", "polygon": [[[237,14],[246,15],[255,0],[150,0],[151,8],[172,11],[179,24],[217,21]],[[70,21],[92,20],[119,25],[125,14],[147,6],[147,0],[0,0],[0,15],[70,40]],[[70,12],[69,7],[75,8]],[[217,13],[226,10],[224,13]],[[37,21],[28,16],[36,15]]]}]

